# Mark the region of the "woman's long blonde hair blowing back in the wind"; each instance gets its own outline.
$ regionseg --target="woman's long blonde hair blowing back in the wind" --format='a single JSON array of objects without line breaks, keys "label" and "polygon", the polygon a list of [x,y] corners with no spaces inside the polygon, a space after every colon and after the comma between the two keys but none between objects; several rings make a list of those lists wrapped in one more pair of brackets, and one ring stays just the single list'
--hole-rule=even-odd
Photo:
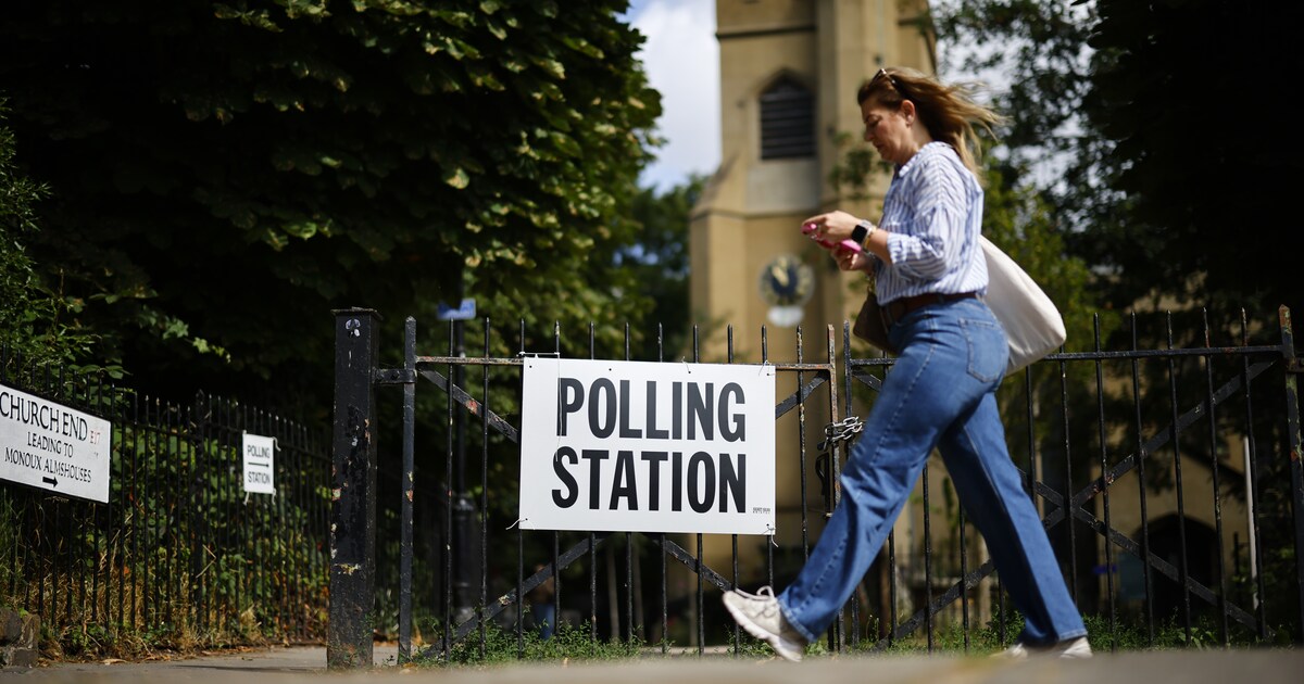
[{"label": "woman's long blonde hair blowing back in the wind", "polygon": [[932,139],[945,142],[956,150],[965,167],[982,177],[978,158],[982,156],[982,143],[974,126],[982,126],[992,133],[992,126],[1004,117],[987,107],[978,104],[973,94],[974,83],[945,85],[914,69],[891,66],[879,69],[872,78],[861,85],[855,93],[855,103],[874,98],[878,103],[897,108],[910,100],[919,121],[927,126]]}]

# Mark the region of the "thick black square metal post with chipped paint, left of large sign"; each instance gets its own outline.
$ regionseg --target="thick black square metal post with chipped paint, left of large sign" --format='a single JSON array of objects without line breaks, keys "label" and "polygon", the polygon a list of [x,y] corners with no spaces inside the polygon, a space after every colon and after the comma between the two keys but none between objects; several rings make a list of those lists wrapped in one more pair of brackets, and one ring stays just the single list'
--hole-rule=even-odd
[{"label": "thick black square metal post with chipped paint, left of large sign", "polygon": [[330,670],[370,668],[376,619],[376,392],[379,314],[335,314],[335,409],[331,429]]}]

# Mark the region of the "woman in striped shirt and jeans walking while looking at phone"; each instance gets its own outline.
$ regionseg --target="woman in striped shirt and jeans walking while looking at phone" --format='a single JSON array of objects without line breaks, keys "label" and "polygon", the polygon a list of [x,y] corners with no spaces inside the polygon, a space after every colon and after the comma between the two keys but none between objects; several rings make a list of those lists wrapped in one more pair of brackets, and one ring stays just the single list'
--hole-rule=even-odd
[{"label": "woman in striped shirt and jeans walking while looking at phone", "polygon": [[[999,116],[964,86],[879,69],[857,93],[865,141],[896,172],[878,224],[845,211],[806,219],[844,271],[875,278],[888,341],[900,350],[841,474],[842,499],[797,578],[778,595],[726,591],[750,634],[801,661],[883,547],[928,453],[941,452],[969,519],[986,539],[1024,631],[1012,658],[1088,658],[1082,618],[1005,448],[996,388],[1005,332],[983,301],[987,264],[975,125]],[[838,248],[850,238],[862,250]]]}]

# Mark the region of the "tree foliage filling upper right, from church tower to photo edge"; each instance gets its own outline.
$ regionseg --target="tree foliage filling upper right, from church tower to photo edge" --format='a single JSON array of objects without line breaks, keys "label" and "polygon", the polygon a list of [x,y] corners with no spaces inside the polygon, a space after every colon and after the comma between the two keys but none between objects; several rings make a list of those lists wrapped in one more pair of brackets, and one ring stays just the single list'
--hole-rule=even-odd
[{"label": "tree foliage filling upper right, from church tower to photo edge", "polygon": [[[1239,330],[1240,307],[1275,331],[1277,306],[1304,305],[1290,250],[1270,227],[1304,177],[1273,154],[1265,130],[1286,108],[1245,102],[1304,64],[1287,35],[1297,4],[1222,0],[983,0],[934,3],[938,30],[996,70],[1012,117],[1012,164],[1039,162],[1035,182],[1068,249],[1106,278],[1108,306],[1138,300],[1209,307],[1214,327]],[[1218,321],[1227,323],[1219,324]]]}]

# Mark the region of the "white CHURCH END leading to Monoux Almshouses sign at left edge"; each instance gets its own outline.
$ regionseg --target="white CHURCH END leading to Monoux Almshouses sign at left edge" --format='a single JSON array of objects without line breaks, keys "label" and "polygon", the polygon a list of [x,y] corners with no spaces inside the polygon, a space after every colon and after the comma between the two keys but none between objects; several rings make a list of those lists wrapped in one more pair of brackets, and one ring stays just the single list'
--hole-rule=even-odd
[{"label": "white CHURCH END leading to Monoux Almshouses sign at left edge", "polygon": [[0,479],[108,503],[112,425],[0,384]]}]

